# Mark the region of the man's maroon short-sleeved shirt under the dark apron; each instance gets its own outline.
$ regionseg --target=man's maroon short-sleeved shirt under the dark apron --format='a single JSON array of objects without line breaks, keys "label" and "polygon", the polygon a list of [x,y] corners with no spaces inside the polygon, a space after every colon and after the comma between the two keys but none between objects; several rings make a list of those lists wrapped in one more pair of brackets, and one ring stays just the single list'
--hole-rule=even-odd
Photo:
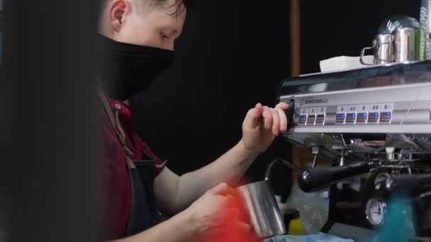
[{"label": "man's maroon short-sleeved shirt under the dark apron", "polygon": [[[156,159],[156,175],[162,171],[164,162],[160,160],[147,145],[136,135],[135,126],[133,125],[130,108],[121,101],[108,98],[114,117],[117,116],[119,125],[125,133],[125,142],[128,149],[133,152],[130,157],[133,160],[142,159],[142,152],[147,156]],[[103,239],[111,240],[124,238],[125,230],[128,224],[130,206],[132,200],[132,190],[130,188],[130,178],[126,166],[123,146],[118,141],[108,115],[103,110],[101,116],[102,128],[102,223]]]}]

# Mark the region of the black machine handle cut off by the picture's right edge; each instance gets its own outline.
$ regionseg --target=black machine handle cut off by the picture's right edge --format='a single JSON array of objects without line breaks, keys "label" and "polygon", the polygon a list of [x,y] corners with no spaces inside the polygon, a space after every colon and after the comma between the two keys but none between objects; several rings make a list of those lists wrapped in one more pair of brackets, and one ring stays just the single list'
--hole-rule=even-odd
[{"label": "black machine handle cut off by the picture's right edge", "polygon": [[431,174],[396,175],[383,184],[379,190],[384,192],[384,195],[405,192],[416,197],[424,192],[431,192]]}]

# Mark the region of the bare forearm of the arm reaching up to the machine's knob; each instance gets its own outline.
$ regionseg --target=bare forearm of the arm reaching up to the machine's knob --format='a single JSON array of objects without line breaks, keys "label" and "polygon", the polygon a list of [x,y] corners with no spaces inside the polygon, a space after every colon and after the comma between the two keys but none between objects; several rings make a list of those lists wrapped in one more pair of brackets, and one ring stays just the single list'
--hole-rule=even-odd
[{"label": "bare forearm of the arm reaching up to the machine's knob", "polygon": [[236,183],[258,155],[247,149],[241,141],[208,166],[181,175],[178,180],[177,206],[180,210],[186,209],[204,192],[219,183]]}]

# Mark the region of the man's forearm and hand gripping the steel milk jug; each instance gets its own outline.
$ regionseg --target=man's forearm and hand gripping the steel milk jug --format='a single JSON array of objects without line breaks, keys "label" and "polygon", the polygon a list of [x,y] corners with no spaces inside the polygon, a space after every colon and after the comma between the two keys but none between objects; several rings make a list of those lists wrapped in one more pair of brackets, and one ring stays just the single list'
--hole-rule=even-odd
[{"label": "man's forearm and hand gripping the steel milk jug", "polygon": [[242,205],[232,188],[221,183],[208,190],[183,212],[139,234],[119,239],[118,242],[144,241],[258,241],[250,226],[239,219]]}]

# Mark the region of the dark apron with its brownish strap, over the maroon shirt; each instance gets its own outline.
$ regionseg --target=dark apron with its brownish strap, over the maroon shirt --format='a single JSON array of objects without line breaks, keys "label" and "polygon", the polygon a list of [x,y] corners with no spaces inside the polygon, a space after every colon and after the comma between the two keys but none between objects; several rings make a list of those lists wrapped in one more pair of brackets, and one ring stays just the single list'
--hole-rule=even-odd
[{"label": "dark apron with its brownish strap, over the maroon shirt", "polygon": [[142,160],[133,161],[130,157],[133,153],[125,144],[125,134],[118,120],[118,114],[114,116],[111,107],[103,93],[99,93],[103,108],[108,115],[118,141],[123,146],[125,154],[125,166],[128,168],[130,186],[132,190],[132,204],[125,236],[133,236],[152,226],[159,224],[159,209],[154,195],[155,159],[142,154]]}]

